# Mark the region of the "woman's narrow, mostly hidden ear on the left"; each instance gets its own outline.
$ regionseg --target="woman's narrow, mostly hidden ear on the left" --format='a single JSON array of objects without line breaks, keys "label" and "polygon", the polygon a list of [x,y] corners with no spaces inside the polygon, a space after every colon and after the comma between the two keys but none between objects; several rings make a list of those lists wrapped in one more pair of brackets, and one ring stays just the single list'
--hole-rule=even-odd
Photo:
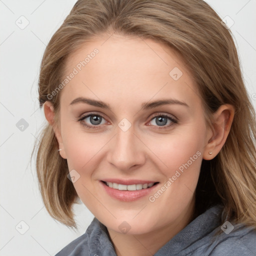
[{"label": "woman's narrow, mostly hidden ear on the left", "polygon": [[64,146],[63,146],[60,127],[59,127],[59,125],[57,125],[56,120],[54,118],[55,113],[54,113],[52,103],[49,101],[45,101],[43,104],[43,110],[44,110],[44,115],[45,115],[46,120],[52,126],[52,128],[54,130],[54,134],[58,141],[58,148],[61,149],[61,150],[59,150],[59,154],[61,155],[62,158],[66,159],[66,153],[64,150]]}]

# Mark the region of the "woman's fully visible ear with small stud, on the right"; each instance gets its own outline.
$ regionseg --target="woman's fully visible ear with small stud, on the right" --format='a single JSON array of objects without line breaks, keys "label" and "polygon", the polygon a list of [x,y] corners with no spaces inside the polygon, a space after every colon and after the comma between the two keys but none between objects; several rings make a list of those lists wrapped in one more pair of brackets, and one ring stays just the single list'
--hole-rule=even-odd
[{"label": "woman's fully visible ear with small stud, on the right", "polygon": [[233,117],[234,107],[230,104],[221,105],[213,114],[213,130],[204,148],[203,159],[211,160],[219,153],[230,131]]}]

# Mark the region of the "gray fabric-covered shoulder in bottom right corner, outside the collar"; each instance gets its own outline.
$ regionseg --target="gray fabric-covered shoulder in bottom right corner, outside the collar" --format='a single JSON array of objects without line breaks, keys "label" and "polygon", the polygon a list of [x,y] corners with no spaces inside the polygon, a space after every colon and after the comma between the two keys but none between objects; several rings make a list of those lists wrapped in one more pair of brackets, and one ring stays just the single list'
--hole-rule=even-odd
[{"label": "gray fabric-covered shoulder in bottom right corner, outside the collar", "polygon": [[[228,222],[229,223],[229,222]],[[229,225],[231,225],[229,223]],[[222,225],[223,226],[223,225]],[[226,227],[226,225],[224,225]],[[230,232],[222,232],[213,242],[210,256],[255,256],[256,229],[237,224]],[[223,230],[223,229],[222,229]]]}]

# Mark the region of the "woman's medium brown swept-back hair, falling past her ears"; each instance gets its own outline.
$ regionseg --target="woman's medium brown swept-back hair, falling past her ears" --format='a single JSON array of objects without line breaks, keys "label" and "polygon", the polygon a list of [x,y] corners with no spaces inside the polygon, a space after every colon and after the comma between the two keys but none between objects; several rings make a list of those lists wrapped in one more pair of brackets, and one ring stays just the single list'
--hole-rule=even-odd
[{"label": "woman's medium brown swept-back hair, falling past her ears", "polygon": [[[229,29],[203,0],[78,0],[51,37],[40,66],[39,102],[53,104],[57,116],[61,91],[49,95],[63,77],[66,59],[84,42],[119,33],[165,43],[186,59],[200,92],[206,120],[222,104],[235,107],[226,142],[212,160],[202,160],[196,187],[196,214],[224,205],[225,219],[256,228],[255,112],[242,79]],[[68,86],[68,85],[67,85]],[[75,227],[72,204],[77,193],[58,151],[52,126],[46,124],[34,150],[43,202],[49,214]]]}]

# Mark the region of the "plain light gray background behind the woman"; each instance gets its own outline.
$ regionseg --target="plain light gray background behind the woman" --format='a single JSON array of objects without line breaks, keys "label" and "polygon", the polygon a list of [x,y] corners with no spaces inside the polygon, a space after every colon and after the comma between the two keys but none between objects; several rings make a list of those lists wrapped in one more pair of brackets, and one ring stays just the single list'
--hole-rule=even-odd
[{"label": "plain light gray background behind the woman", "polygon": [[[34,161],[29,163],[34,140],[45,122],[37,102],[40,61],[75,1],[0,0],[0,256],[55,255],[84,233],[93,218],[81,204],[74,208],[78,232],[53,220],[40,197]],[[234,21],[230,29],[256,106],[256,0],[207,2],[221,18],[228,15]],[[22,15],[29,21],[24,29],[15,23],[25,24]],[[28,123],[23,131],[16,127],[21,118]]]}]

